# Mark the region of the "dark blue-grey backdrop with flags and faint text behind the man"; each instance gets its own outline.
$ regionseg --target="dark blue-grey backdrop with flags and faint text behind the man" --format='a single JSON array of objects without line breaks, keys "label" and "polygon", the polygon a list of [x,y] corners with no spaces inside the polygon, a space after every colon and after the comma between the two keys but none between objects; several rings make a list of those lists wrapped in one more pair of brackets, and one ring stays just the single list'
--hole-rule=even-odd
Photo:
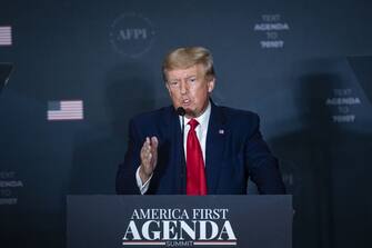
[{"label": "dark blue-grey backdrop with flags and faint text behind the man", "polygon": [[[64,247],[66,196],[114,194],[128,120],[170,103],[160,67],[180,46],[212,50],[217,103],[261,116],[293,195],[293,247],[372,247],[371,10],[1,1],[0,62],[14,69],[0,95],[0,247]],[[51,120],[61,101],[80,101],[81,116]]]}]

